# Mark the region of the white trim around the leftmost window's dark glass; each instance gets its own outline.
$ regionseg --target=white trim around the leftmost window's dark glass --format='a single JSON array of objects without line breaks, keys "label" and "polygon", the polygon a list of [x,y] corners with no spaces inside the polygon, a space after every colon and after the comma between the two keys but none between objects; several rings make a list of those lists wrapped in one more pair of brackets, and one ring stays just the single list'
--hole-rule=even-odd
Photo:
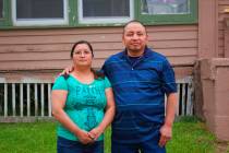
[{"label": "white trim around the leftmost window's dark glass", "polygon": [[63,0],[63,19],[16,19],[16,0],[12,0],[12,20],[13,25],[64,25],[69,24],[68,0]]}]

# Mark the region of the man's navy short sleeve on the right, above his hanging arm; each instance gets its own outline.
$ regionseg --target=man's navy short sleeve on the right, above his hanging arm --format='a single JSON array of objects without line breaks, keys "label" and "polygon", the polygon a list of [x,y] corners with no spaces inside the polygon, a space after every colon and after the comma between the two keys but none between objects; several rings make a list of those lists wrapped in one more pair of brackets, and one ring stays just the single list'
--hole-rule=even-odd
[{"label": "man's navy short sleeve on the right, above his hanging arm", "polygon": [[166,94],[177,92],[177,83],[174,79],[174,71],[168,60],[164,61],[162,66],[162,89]]}]

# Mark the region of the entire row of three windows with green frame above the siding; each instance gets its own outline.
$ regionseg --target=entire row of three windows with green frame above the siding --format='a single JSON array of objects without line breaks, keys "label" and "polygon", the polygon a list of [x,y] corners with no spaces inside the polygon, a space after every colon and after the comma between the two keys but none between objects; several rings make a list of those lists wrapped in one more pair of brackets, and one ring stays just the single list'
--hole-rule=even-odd
[{"label": "entire row of three windows with green frame above the siding", "polygon": [[197,0],[0,0],[0,28],[197,23]]}]

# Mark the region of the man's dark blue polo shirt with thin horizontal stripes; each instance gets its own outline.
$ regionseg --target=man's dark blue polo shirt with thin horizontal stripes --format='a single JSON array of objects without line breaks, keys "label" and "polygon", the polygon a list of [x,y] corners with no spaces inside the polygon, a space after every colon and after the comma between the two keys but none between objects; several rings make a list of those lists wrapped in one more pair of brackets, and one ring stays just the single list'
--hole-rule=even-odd
[{"label": "man's dark blue polo shirt with thin horizontal stripes", "polygon": [[105,61],[103,71],[113,87],[116,117],[112,141],[142,142],[159,134],[165,119],[165,94],[177,92],[174,72],[165,56],[145,48],[131,62],[126,50]]}]

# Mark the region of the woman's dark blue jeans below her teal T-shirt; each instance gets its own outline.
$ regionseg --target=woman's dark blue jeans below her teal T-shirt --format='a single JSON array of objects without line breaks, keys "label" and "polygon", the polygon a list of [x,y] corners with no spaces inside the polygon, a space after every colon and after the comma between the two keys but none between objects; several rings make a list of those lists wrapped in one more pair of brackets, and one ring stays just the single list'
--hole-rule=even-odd
[{"label": "woman's dark blue jeans below her teal T-shirt", "polygon": [[96,141],[92,144],[82,144],[79,141],[58,137],[57,151],[58,153],[104,153],[104,141]]}]

